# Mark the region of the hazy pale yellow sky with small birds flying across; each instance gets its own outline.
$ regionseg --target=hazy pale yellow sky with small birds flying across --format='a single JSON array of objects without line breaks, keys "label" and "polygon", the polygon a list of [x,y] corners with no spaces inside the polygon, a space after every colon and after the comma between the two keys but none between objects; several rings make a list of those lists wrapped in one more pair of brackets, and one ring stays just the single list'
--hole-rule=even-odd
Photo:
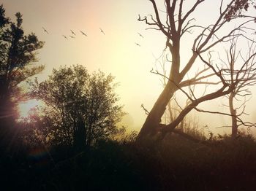
[{"label": "hazy pale yellow sky with small birds flying across", "polygon": [[[132,130],[140,130],[146,119],[140,105],[150,110],[162,90],[159,77],[150,71],[156,68],[155,58],[161,55],[165,38],[159,31],[146,30],[148,26],[138,21],[138,14],[153,14],[150,1],[2,0],[1,3],[8,17],[13,18],[15,12],[21,12],[24,31],[27,34],[34,32],[39,40],[45,42],[37,55],[38,64],[45,65],[45,70],[38,76],[39,80],[45,79],[53,68],[73,64],[86,66],[90,72],[99,69],[105,74],[111,73],[116,77],[115,82],[119,83],[116,93],[121,98],[120,103],[124,104],[124,111],[128,113],[124,123]],[[213,20],[215,15],[210,10],[217,6],[208,1],[204,7],[200,7],[200,15],[194,14],[198,22]],[[72,35],[70,30],[76,35]],[[80,31],[86,33],[87,37]],[[64,39],[63,35],[68,39]],[[75,36],[75,39],[69,35]],[[191,43],[189,36],[186,36],[182,42],[182,47],[186,48],[182,50],[181,60],[191,54],[191,49],[187,48],[191,47]],[[216,105],[220,105],[219,101],[210,103],[210,106]],[[28,107],[23,104],[24,110]],[[249,109],[255,112],[252,104]],[[203,124],[208,124],[209,118],[202,119]],[[218,119],[225,120],[224,117]]]}]

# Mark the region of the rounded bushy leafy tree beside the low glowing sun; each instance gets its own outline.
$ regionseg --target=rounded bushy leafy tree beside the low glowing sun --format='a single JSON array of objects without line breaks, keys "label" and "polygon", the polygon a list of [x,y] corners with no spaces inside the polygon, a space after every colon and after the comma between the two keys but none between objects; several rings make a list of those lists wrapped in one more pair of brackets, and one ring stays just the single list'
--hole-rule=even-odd
[{"label": "rounded bushy leafy tree beside the low glowing sun", "polygon": [[36,79],[30,95],[47,106],[48,112],[43,114],[48,121],[45,136],[55,144],[82,149],[118,133],[117,122],[124,113],[117,103],[115,87],[111,75],[105,76],[102,71],[89,74],[80,65],[53,69],[44,82]]}]

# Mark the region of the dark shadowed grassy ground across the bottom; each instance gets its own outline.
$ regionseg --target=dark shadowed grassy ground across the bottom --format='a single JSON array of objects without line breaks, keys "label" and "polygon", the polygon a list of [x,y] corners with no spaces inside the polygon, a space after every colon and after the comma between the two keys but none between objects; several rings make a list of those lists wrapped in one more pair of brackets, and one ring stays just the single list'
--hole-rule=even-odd
[{"label": "dark shadowed grassy ground across the bottom", "polygon": [[53,160],[24,151],[1,157],[1,180],[19,190],[255,190],[255,140],[242,135],[208,142],[210,147],[173,134],[142,147],[133,136],[98,141],[78,154],[55,147]]}]

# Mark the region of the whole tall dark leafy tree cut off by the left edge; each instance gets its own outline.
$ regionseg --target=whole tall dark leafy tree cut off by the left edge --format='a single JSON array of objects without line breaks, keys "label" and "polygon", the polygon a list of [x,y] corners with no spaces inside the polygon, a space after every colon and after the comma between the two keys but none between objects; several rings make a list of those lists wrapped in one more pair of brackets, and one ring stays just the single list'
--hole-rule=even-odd
[{"label": "whole tall dark leafy tree cut off by the left edge", "polygon": [[10,139],[15,117],[14,104],[20,98],[20,82],[38,74],[43,66],[31,66],[37,61],[36,50],[43,46],[35,34],[25,35],[22,15],[15,14],[16,22],[5,16],[0,6],[0,139]]}]

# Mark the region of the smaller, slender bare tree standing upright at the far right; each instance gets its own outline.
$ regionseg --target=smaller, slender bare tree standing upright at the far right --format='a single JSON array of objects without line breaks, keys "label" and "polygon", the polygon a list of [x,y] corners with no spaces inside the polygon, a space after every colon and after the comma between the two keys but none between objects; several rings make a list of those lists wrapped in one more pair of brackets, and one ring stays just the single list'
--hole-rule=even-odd
[{"label": "smaller, slender bare tree standing upright at the far right", "polygon": [[[227,73],[226,78],[230,80],[231,85],[234,85],[230,94],[225,96],[228,98],[228,105],[224,105],[230,110],[233,138],[237,136],[238,127],[244,126],[249,128],[255,126],[255,124],[240,120],[240,117],[246,114],[246,103],[249,101],[248,96],[251,95],[249,87],[256,83],[255,49],[255,43],[248,44],[248,52],[244,57],[241,50],[237,50],[237,41],[233,40],[230,44],[230,49],[226,51],[227,63],[222,61],[227,67],[225,70]],[[236,65],[239,63],[244,66],[244,69],[241,71],[236,68]],[[238,82],[236,83],[236,81]],[[240,104],[235,106],[235,101],[240,102]]]}]

